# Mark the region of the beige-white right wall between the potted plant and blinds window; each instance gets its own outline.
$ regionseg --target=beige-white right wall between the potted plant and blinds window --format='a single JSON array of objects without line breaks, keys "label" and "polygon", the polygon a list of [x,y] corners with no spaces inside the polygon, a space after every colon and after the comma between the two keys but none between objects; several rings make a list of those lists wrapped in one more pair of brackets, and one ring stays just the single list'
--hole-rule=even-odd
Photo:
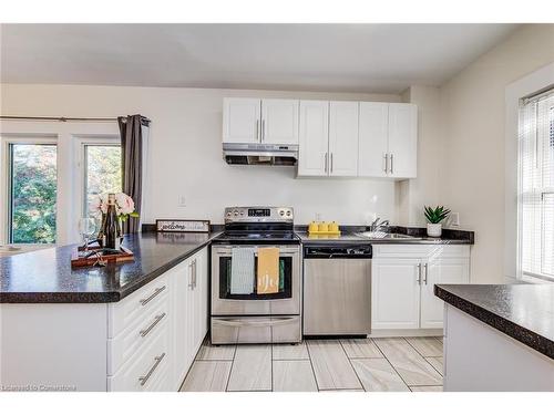
[{"label": "beige-white right wall between the potted plant and blinds window", "polygon": [[554,24],[524,25],[442,85],[441,204],[475,230],[472,281],[504,277],[505,87],[554,61]]}]

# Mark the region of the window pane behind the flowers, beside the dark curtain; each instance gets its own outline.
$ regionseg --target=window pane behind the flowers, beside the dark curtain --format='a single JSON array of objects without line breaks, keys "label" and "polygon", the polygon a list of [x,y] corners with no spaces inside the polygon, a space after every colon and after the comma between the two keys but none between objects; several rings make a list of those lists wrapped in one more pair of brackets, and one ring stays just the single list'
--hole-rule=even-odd
[{"label": "window pane behind the flowers, beside the dark curtain", "polygon": [[83,216],[89,216],[89,204],[94,195],[117,193],[122,189],[121,145],[83,144],[84,200]]}]

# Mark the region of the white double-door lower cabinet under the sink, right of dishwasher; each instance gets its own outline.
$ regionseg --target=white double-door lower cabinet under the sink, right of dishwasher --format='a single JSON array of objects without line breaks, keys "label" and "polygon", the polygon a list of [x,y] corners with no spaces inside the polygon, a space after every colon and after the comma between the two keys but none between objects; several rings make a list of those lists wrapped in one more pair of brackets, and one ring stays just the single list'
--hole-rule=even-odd
[{"label": "white double-door lower cabinet under the sink, right of dishwasher", "polygon": [[434,284],[470,282],[469,246],[373,246],[371,329],[440,329]]}]

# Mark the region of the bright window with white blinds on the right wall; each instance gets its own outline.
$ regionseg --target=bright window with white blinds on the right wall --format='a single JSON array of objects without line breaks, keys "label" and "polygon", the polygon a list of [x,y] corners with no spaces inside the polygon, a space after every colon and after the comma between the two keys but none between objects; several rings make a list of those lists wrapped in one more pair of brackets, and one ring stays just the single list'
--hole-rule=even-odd
[{"label": "bright window with white blinds on the right wall", "polygon": [[522,273],[554,279],[554,90],[520,106],[519,205]]}]

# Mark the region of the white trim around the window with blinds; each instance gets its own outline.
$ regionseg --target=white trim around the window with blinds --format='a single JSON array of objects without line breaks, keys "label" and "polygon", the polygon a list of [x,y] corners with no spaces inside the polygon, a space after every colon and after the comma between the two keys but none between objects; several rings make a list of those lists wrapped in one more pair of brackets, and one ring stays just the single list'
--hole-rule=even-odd
[{"label": "white trim around the window with blinds", "polygon": [[[507,280],[523,278],[521,267],[521,221],[517,190],[519,175],[519,114],[521,100],[554,85],[554,62],[510,84],[505,90],[505,209],[504,209],[504,276]],[[544,280],[531,282],[546,282]]]}]

